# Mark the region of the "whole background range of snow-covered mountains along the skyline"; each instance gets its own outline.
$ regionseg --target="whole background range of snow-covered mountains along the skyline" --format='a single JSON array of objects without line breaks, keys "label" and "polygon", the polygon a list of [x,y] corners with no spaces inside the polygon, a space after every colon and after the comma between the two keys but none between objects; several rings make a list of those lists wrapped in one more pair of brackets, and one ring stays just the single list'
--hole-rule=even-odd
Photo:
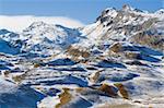
[{"label": "whole background range of snow-covered mountains along the skyline", "polygon": [[[105,9],[95,23],[82,28],[73,29],[34,22],[22,33],[1,29],[0,37],[12,44],[21,43],[23,51],[48,55],[60,52],[72,44],[89,47],[115,41],[129,41],[163,50],[163,9],[149,13],[124,5],[121,10]],[[17,46],[21,47],[21,45]]]}]

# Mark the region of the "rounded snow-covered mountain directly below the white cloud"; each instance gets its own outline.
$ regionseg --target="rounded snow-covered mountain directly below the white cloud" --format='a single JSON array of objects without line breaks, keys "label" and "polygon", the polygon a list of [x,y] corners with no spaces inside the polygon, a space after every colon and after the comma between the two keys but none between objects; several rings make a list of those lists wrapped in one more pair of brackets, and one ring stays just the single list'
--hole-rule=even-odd
[{"label": "rounded snow-covered mountain directly below the white cloud", "polygon": [[22,32],[21,39],[25,43],[22,50],[52,55],[78,43],[81,36],[75,28],[34,22]]}]

